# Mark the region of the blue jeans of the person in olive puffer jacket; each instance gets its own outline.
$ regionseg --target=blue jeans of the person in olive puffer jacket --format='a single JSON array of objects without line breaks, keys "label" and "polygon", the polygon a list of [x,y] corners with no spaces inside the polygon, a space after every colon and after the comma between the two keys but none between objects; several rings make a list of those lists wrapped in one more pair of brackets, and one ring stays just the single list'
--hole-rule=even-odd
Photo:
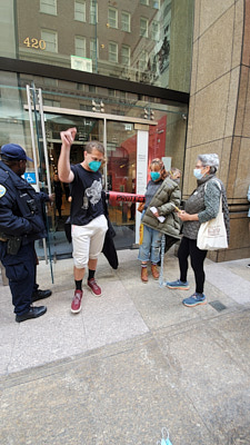
[{"label": "blue jeans of the person in olive puffer jacket", "polygon": [[160,260],[162,234],[143,225],[143,241],[139,248],[138,259],[157,264]]}]

